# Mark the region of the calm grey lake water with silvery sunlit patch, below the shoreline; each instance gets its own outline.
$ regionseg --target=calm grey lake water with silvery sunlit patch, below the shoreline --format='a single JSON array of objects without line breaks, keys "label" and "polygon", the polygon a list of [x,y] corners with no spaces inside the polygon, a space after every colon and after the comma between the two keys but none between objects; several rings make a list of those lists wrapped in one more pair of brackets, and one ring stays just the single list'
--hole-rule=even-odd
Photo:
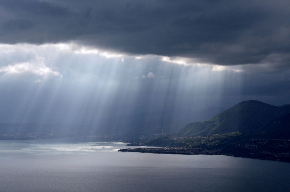
[{"label": "calm grey lake water with silvery sunlit patch, below the shoreline", "polygon": [[0,141],[0,191],[290,191],[290,163],[120,148],[128,146]]}]

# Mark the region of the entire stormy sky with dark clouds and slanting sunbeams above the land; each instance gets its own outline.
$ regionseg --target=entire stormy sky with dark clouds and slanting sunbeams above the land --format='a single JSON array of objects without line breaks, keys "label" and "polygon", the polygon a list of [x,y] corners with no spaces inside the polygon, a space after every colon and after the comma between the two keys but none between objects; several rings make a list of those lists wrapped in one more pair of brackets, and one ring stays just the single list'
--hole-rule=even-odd
[{"label": "entire stormy sky with dark clouds and slanting sunbeams above the land", "polygon": [[0,0],[0,122],[290,103],[290,1]]}]

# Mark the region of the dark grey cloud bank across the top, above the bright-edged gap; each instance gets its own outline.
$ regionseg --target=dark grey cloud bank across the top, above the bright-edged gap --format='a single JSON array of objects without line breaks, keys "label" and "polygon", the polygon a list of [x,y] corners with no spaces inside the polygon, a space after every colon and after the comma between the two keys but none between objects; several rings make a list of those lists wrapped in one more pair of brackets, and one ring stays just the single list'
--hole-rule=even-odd
[{"label": "dark grey cloud bank across the top, above the bright-edged gap", "polygon": [[290,1],[0,1],[2,43],[289,65]]}]

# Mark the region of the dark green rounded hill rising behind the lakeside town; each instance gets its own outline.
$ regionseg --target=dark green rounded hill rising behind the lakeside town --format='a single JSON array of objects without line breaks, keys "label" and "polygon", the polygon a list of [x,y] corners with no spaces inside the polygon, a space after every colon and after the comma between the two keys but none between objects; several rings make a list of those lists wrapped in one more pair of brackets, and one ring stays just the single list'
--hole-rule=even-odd
[{"label": "dark green rounded hill rising behind the lakeside town", "polygon": [[[246,134],[261,133],[263,131],[270,133],[270,130],[276,127],[271,124],[267,126],[267,123],[279,117],[285,119],[286,117],[282,116],[288,113],[290,113],[290,105],[273,106],[260,101],[244,101],[211,117],[207,121],[187,124],[176,135],[181,137],[205,136],[237,131]],[[286,120],[285,123],[287,124]],[[278,136],[279,134],[277,133],[276,135]]]}]

